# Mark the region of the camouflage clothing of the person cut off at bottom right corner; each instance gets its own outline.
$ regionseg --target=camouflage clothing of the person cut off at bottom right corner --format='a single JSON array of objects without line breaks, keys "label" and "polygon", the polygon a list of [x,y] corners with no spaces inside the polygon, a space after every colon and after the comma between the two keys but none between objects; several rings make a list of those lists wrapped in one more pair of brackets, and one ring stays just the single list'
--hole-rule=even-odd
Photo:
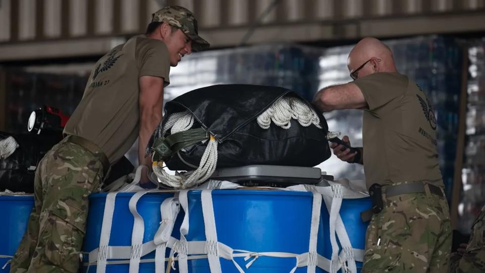
[{"label": "camouflage clothing of the person cut off at bottom right corner", "polygon": [[472,232],[465,253],[453,253],[450,272],[485,272],[485,206],[473,222]]}]

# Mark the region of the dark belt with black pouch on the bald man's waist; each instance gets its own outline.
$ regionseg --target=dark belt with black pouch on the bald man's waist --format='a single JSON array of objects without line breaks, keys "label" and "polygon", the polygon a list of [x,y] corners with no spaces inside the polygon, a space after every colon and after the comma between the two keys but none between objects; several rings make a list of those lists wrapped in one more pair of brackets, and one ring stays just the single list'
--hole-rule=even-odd
[{"label": "dark belt with black pouch on the bald man's waist", "polygon": [[[438,187],[438,186],[434,186],[434,185],[431,185],[431,184],[427,184],[428,187],[429,187],[429,192],[431,194],[435,194],[435,195],[438,195],[438,196],[441,196],[441,197],[445,197],[445,195],[443,194],[443,190]],[[402,194],[410,194],[410,193],[424,193],[425,192],[425,188],[424,188],[424,184],[421,183],[421,182],[417,182],[417,183],[409,183],[409,184],[401,184],[401,185],[395,185],[395,186],[383,186],[385,187],[385,197],[393,197],[393,196],[397,196],[397,195],[402,195]],[[369,189],[369,192],[372,190],[372,187],[371,189]],[[379,192],[380,194],[380,192]],[[375,207],[379,207],[379,206],[375,206],[374,204],[374,200],[377,199],[380,199],[382,201],[382,196],[376,196],[375,198],[372,199],[372,207],[375,208]],[[382,204],[380,205],[382,207]],[[380,211],[380,210],[379,210]],[[370,218],[372,217],[372,214],[374,214],[376,212],[373,211],[373,209],[368,209],[368,210],[364,210],[360,213],[360,217],[362,219],[362,221],[366,222],[368,220],[370,220]]]}]

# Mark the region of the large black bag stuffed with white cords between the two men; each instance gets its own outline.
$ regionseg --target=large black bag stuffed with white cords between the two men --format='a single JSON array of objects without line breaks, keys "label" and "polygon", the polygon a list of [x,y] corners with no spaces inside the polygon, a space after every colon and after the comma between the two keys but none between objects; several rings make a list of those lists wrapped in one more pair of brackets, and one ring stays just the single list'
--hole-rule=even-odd
[{"label": "large black bag stuffed with white cords between the two men", "polygon": [[[165,105],[165,118],[152,135],[148,145],[152,149],[147,149],[147,153],[155,151],[154,160],[163,160],[171,170],[196,169],[207,142],[164,153],[176,146],[175,141],[167,141],[170,130],[162,135],[167,117],[189,111],[195,118],[191,128],[202,127],[199,131],[192,130],[195,139],[208,139],[212,135],[217,140],[217,167],[252,164],[312,167],[328,159],[331,155],[326,139],[328,126],[322,115],[319,115],[321,129],[314,125],[303,127],[294,119],[288,129],[275,124],[263,129],[257,123],[258,116],[283,96],[304,101],[291,90],[274,86],[227,84],[192,90]],[[174,146],[166,147],[167,143]]]}]

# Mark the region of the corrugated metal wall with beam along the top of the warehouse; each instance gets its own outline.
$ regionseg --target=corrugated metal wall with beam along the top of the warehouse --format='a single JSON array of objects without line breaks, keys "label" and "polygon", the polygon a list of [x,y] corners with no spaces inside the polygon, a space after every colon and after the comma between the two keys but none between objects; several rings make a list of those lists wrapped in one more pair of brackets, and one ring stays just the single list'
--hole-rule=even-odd
[{"label": "corrugated metal wall with beam along the top of the warehouse", "polygon": [[[144,32],[151,13],[165,5],[192,10],[213,45],[237,45],[275,1],[250,43],[485,30],[485,0],[0,0],[0,48],[129,36]],[[105,50],[113,41],[103,42]]]}]

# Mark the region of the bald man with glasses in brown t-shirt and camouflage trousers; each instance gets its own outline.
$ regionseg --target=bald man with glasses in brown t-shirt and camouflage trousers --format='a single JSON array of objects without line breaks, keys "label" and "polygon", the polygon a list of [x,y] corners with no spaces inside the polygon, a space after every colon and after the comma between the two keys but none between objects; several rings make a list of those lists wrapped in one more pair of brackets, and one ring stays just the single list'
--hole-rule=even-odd
[{"label": "bald man with glasses in brown t-shirt and camouflage trousers", "polygon": [[[323,88],[313,102],[323,112],[363,110],[358,160],[332,145],[341,160],[364,165],[372,198],[372,210],[362,214],[371,218],[362,272],[446,272],[452,230],[433,108],[376,38],[355,45],[348,68],[354,81]],[[350,146],[347,136],[344,141]]]}]

